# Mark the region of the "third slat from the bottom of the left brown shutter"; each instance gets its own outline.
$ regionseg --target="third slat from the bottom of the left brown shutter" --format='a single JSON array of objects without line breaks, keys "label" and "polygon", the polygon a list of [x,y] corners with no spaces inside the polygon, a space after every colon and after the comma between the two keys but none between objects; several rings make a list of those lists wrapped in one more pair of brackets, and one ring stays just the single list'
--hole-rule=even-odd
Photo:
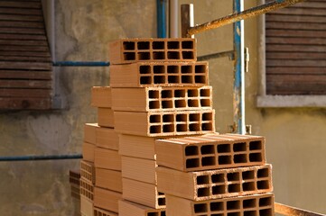
[{"label": "third slat from the bottom of the left brown shutter", "polygon": [[41,88],[51,89],[51,80],[4,80],[0,79],[0,88]]}]

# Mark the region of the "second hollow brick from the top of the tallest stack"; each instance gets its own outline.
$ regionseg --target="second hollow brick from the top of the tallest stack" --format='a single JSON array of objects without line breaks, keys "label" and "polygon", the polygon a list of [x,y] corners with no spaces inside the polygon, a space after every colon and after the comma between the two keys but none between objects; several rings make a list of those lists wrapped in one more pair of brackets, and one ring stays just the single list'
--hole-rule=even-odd
[{"label": "second hollow brick from the top of the tallest stack", "polygon": [[111,87],[209,85],[208,62],[136,62],[110,66]]}]

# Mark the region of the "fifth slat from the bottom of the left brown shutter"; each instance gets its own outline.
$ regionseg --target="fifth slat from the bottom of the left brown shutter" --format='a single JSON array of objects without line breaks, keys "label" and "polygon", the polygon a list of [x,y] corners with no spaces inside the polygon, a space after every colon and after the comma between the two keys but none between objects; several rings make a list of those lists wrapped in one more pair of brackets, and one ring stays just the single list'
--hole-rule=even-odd
[{"label": "fifth slat from the bottom of the left brown shutter", "polygon": [[0,61],[2,69],[51,70],[50,62]]}]

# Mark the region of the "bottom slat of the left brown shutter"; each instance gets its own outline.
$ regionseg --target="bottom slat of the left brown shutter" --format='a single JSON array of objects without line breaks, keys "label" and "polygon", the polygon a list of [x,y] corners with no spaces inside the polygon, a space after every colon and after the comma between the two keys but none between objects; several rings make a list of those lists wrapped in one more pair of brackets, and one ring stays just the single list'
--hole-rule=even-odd
[{"label": "bottom slat of the left brown shutter", "polygon": [[5,110],[49,110],[51,109],[51,104],[51,97],[0,97],[0,109]]}]

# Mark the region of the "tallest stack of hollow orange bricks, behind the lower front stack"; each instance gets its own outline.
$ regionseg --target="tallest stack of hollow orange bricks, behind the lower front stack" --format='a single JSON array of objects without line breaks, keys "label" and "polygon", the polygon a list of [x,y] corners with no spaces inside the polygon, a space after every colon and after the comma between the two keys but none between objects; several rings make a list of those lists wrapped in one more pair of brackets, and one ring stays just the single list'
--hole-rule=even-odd
[{"label": "tallest stack of hollow orange bricks, behind the lower front stack", "polygon": [[110,86],[122,158],[120,216],[163,216],[155,140],[214,131],[207,62],[193,39],[117,40],[110,44]]}]

